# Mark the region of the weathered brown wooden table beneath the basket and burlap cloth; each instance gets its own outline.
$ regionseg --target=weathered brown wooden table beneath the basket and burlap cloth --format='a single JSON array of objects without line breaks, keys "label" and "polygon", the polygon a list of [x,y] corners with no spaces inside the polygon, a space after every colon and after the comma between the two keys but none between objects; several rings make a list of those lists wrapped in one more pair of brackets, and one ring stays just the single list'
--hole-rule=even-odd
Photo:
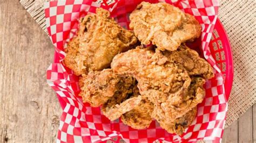
[{"label": "weathered brown wooden table beneath the basket and burlap cloth", "polygon": [[[54,49],[17,0],[0,0],[0,47],[0,142],[55,142],[61,109],[45,73]],[[256,106],[225,129],[223,141],[253,139]]]}]

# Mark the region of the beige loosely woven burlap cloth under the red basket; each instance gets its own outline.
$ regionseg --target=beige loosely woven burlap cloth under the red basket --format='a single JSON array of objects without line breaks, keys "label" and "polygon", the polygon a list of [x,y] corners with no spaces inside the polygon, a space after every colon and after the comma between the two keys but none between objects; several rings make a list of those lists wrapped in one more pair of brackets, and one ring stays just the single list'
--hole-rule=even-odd
[{"label": "beige loosely woven burlap cloth under the red basket", "polygon": [[[43,4],[47,0],[20,0],[24,8],[46,31]],[[230,39],[234,81],[228,100],[226,127],[256,101],[256,1],[220,1],[219,19]]]}]

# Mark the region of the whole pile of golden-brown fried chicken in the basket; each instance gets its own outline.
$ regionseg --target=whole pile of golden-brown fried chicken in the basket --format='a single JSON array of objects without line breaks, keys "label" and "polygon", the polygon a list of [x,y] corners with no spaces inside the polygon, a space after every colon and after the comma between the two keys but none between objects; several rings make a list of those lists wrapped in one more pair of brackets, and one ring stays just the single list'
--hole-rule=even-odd
[{"label": "whole pile of golden-brown fried chicken in the basket", "polygon": [[[156,119],[167,132],[181,135],[204,99],[205,79],[214,76],[210,64],[182,44],[199,38],[201,27],[167,3],[142,2],[130,20],[134,34],[103,9],[80,19],[64,63],[82,75],[83,102],[102,105],[110,120],[121,117],[124,124],[143,129]],[[133,49],[138,45],[135,35],[153,46]]]}]

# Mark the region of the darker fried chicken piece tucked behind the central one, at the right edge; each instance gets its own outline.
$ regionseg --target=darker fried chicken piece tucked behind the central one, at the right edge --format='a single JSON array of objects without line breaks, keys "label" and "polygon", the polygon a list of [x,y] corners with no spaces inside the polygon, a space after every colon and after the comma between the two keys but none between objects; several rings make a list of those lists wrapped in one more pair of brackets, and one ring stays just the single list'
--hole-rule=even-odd
[{"label": "darker fried chicken piece tucked behind the central one, at the right edge", "polygon": [[205,79],[214,77],[211,65],[185,44],[181,44],[177,51],[165,51],[164,55],[169,60],[182,64],[190,75],[199,75]]}]

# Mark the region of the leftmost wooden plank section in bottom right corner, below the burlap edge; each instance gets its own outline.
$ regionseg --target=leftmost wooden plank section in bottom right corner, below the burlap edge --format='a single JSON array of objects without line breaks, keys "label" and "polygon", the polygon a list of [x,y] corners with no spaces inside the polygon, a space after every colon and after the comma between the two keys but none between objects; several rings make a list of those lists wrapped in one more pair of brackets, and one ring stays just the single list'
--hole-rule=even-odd
[{"label": "leftmost wooden plank section in bottom right corner, below the burlap edge", "polygon": [[222,142],[238,142],[238,120],[225,128]]}]

